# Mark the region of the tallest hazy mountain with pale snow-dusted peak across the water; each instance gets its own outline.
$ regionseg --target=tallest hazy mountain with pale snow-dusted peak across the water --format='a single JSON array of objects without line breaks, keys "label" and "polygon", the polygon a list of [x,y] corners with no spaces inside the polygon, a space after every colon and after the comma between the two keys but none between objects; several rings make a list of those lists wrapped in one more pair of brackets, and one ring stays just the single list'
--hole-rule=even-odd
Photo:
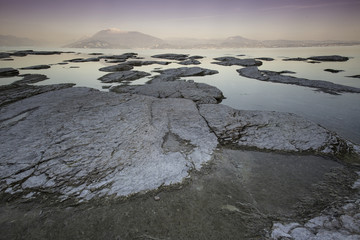
[{"label": "tallest hazy mountain with pale snow-dusted peak across the water", "polygon": [[92,37],[69,44],[75,48],[157,48],[165,44],[156,38],[140,32],[106,29],[95,33]]}]

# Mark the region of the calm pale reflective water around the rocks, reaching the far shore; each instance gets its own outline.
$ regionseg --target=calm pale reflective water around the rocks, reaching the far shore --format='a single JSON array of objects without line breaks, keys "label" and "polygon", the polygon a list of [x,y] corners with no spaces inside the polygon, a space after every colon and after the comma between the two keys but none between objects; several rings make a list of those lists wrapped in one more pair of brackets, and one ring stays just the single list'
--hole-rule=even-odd
[{"label": "calm pale reflective water around the rocks, reaching the far shore", "polygon": [[[6,51],[10,49],[2,49]],[[12,50],[12,49],[11,49]],[[44,50],[44,49],[35,49]],[[215,69],[219,74],[204,77],[190,77],[197,82],[204,82],[218,87],[223,91],[226,99],[223,104],[237,109],[248,110],[268,110],[280,112],[292,112],[312,120],[340,136],[349,139],[355,143],[360,143],[360,94],[344,93],[342,95],[330,95],[317,92],[311,88],[301,86],[285,85],[279,83],[262,82],[255,79],[249,79],[236,72],[240,66],[219,66],[212,64],[214,57],[237,56],[245,54],[241,58],[272,57],[275,60],[271,62],[262,61],[260,69],[282,71],[294,71],[297,77],[304,77],[313,80],[327,80],[334,83],[360,88],[360,80],[346,76],[360,74],[360,46],[353,47],[324,47],[324,48],[271,48],[271,49],[200,49],[200,50],[160,50],[160,49],[137,49],[137,50],[114,50],[114,49],[45,49],[60,51],[75,51],[76,53],[67,53],[50,56],[13,57],[14,61],[0,61],[1,67],[26,67],[38,64],[57,64],[64,60],[73,58],[91,57],[86,53],[102,52],[104,54],[122,54],[133,51],[143,57],[145,60],[152,59],[151,56],[160,53],[186,53],[191,55],[201,55],[206,58],[200,59],[200,67]],[[81,54],[79,53],[81,52]],[[310,57],[318,55],[342,55],[350,57],[347,62],[322,62],[306,63],[282,61],[285,57]],[[162,59],[152,59],[161,60]],[[164,60],[167,61],[167,60]],[[136,70],[152,73],[155,68],[178,68],[183,67],[172,61],[167,66],[149,65],[135,67]],[[41,73],[49,77],[49,80],[37,83],[76,83],[77,86],[86,86],[96,88],[102,91],[103,84],[97,80],[106,73],[98,71],[103,66],[110,65],[105,61],[88,63],[69,63],[67,65],[52,65],[50,69],[45,70],[20,70],[20,74]],[[73,68],[78,67],[78,68]],[[340,73],[325,72],[324,69],[332,68],[344,70]],[[0,84],[9,84],[19,77],[1,78]],[[143,84],[150,77],[134,81],[131,84]],[[112,84],[115,85],[115,84]]]}]

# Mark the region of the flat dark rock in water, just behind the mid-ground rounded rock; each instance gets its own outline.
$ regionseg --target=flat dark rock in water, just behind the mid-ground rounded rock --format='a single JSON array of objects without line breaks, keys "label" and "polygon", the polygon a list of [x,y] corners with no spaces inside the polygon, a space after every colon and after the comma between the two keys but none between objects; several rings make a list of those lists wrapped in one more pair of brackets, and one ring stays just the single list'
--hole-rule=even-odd
[{"label": "flat dark rock in water, just behind the mid-ground rounded rock", "polygon": [[165,70],[156,70],[154,72],[158,72],[160,75],[153,77],[151,83],[175,81],[181,77],[205,76],[219,73],[216,70],[200,67],[170,68]]}]

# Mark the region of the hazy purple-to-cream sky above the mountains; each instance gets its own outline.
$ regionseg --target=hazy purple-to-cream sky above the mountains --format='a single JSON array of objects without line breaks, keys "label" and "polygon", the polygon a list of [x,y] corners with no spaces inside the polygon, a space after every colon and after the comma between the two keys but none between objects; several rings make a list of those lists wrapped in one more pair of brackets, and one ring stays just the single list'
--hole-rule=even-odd
[{"label": "hazy purple-to-cream sky above the mountains", "polygon": [[118,28],[166,38],[360,40],[360,0],[0,0],[0,34],[59,44]]}]

